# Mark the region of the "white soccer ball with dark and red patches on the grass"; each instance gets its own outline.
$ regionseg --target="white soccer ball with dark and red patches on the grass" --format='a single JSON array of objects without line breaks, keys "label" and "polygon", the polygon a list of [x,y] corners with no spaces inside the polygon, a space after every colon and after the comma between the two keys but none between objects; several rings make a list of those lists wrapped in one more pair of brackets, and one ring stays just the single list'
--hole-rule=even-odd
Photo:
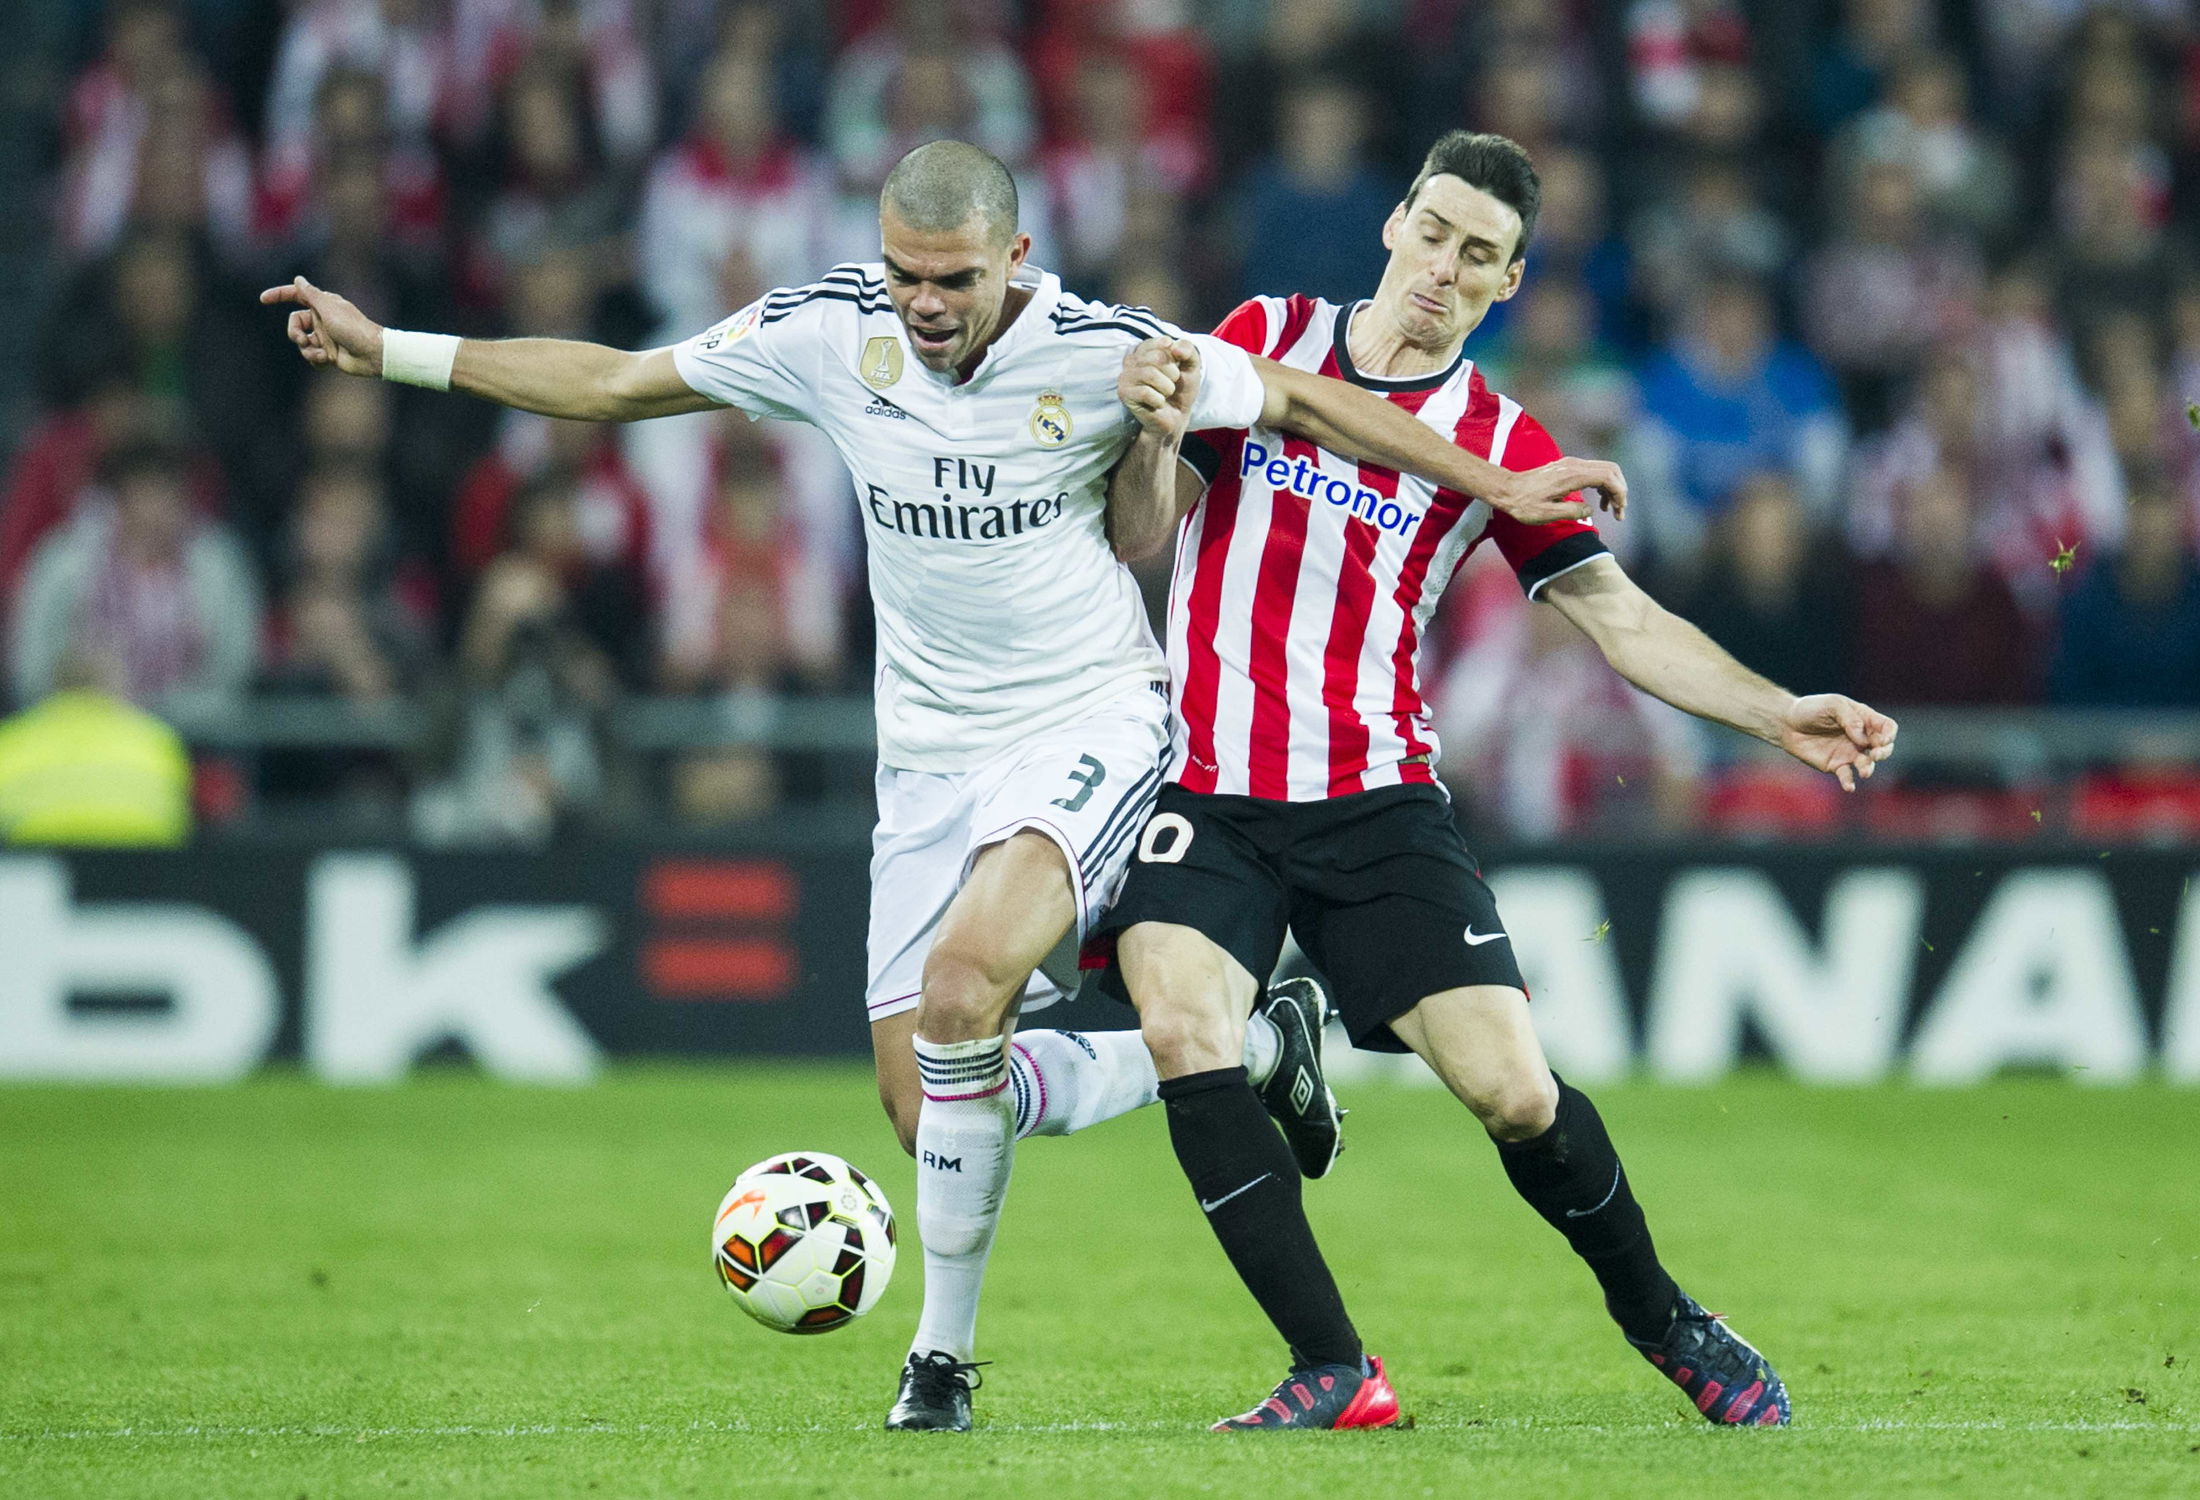
[{"label": "white soccer ball with dark and red patches on the grass", "polygon": [[887,1293],[893,1210],[840,1157],[790,1150],[733,1179],[711,1221],[711,1260],[766,1328],[829,1333]]}]

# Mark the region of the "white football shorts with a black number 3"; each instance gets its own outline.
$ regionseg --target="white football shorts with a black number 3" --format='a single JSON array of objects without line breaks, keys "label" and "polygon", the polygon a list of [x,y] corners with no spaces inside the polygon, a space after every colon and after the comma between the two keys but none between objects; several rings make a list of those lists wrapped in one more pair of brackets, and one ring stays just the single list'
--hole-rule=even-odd
[{"label": "white football shorts with a black number 3", "polygon": [[1168,699],[1137,688],[975,770],[880,765],[865,985],[871,1021],[917,1007],[924,957],[979,849],[1025,829],[1052,838],[1069,862],[1078,922],[1032,974],[1023,1005],[1076,990],[1078,944],[1122,889],[1166,757]]}]

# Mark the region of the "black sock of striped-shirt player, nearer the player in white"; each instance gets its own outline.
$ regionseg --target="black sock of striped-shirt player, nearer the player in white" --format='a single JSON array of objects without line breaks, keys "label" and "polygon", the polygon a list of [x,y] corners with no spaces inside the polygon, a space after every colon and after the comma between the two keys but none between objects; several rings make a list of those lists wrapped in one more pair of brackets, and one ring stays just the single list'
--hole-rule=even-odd
[{"label": "black sock of striped-shirt player, nearer the player in white", "polygon": [[1245,1082],[1245,1069],[1164,1078],[1162,1104],[1208,1227],[1291,1346],[1291,1364],[1357,1366],[1360,1333],[1313,1243],[1298,1199],[1298,1161]]}]

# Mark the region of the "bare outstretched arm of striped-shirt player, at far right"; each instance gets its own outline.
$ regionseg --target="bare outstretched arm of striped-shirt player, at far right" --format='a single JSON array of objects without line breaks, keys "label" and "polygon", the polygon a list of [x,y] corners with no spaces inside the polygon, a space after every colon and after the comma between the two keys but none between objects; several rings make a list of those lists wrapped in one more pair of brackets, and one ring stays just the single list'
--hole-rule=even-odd
[{"label": "bare outstretched arm of striped-shirt player, at far right", "polygon": [[1780,746],[1833,774],[1844,792],[1894,752],[1894,719],[1839,693],[1795,697],[1773,686],[1643,594],[1608,556],[1551,578],[1540,598],[1582,627],[1613,671],[1643,693]]}]

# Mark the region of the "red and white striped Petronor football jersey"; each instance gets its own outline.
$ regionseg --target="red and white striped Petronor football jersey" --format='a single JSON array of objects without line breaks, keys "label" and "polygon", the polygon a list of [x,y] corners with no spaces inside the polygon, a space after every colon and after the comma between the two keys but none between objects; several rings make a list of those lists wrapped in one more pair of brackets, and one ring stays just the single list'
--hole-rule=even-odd
[{"label": "red and white striped Petronor football jersey", "polygon": [[[1560,457],[1542,424],[1463,354],[1408,380],[1353,370],[1351,312],[1256,297],[1214,332],[1388,396],[1505,468]],[[1533,598],[1606,552],[1586,521],[1522,526],[1485,501],[1263,427],[1195,433],[1184,457],[1208,479],[1184,517],[1168,596],[1170,779],[1190,792],[1318,801],[1432,783],[1437,735],[1419,651],[1459,565],[1496,541]]]}]

